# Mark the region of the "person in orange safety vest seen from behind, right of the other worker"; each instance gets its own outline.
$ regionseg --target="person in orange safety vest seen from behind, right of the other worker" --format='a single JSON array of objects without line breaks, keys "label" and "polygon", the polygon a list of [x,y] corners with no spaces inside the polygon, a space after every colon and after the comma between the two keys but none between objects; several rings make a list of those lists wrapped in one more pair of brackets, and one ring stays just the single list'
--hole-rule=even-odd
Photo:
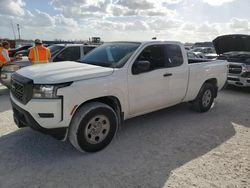
[{"label": "person in orange safety vest seen from behind, right of the other worker", "polygon": [[51,58],[50,49],[43,46],[40,39],[35,40],[35,46],[29,50],[29,60],[33,64],[48,63]]}]

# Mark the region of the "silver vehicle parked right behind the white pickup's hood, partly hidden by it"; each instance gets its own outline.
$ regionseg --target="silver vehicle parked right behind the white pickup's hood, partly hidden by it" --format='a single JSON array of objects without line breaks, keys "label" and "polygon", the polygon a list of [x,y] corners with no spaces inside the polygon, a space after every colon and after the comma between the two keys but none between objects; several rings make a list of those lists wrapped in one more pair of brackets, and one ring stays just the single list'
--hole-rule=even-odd
[{"label": "silver vehicle parked right behind the white pickup's hood, partly hidden by it", "polygon": [[[81,57],[96,47],[97,45],[54,44],[48,47],[51,51],[50,62],[78,61]],[[11,75],[15,71],[30,65],[32,65],[32,63],[29,60],[8,63],[2,68],[0,82],[5,86],[10,87]]]}]

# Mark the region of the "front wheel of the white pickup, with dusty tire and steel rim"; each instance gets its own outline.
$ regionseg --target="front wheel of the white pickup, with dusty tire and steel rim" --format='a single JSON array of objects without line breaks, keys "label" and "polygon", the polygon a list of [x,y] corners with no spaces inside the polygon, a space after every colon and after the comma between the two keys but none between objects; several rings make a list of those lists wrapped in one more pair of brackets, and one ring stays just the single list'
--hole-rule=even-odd
[{"label": "front wheel of the white pickup, with dusty tire and steel rim", "polygon": [[97,152],[109,145],[117,129],[115,111],[101,102],[91,102],[76,111],[69,128],[69,141],[81,152]]}]

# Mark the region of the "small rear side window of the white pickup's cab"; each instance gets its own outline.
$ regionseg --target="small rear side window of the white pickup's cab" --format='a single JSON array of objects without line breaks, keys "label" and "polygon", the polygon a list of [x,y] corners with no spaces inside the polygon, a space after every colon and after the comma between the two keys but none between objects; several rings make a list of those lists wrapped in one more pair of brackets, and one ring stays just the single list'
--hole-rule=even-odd
[{"label": "small rear side window of the white pickup's cab", "polygon": [[183,55],[179,45],[167,44],[165,46],[165,55],[165,67],[177,67],[183,64]]}]

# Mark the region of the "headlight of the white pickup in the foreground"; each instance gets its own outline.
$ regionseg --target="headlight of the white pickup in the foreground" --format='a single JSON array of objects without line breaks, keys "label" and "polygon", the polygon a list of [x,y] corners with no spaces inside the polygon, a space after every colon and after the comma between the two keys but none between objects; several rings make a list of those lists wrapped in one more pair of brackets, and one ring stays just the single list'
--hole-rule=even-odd
[{"label": "headlight of the white pickup in the foreground", "polygon": [[44,98],[44,99],[56,99],[59,98],[57,95],[57,89],[67,87],[71,84],[56,84],[56,85],[34,85],[33,87],[33,98]]}]

